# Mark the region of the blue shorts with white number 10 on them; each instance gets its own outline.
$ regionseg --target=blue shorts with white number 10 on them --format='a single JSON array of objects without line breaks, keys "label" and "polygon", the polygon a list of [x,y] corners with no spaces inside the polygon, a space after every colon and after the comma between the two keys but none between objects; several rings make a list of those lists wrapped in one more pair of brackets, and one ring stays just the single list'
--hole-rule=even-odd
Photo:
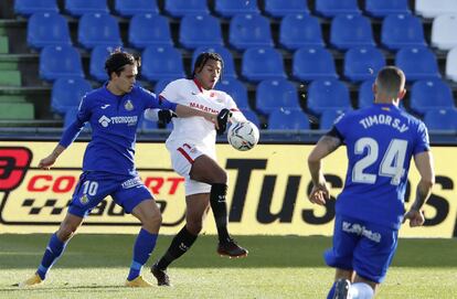
[{"label": "blue shorts with white number 10 on them", "polygon": [[139,177],[86,171],[79,177],[68,213],[85,217],[108,195],[126,213],[131,213],[140,202],[153,199]]}]

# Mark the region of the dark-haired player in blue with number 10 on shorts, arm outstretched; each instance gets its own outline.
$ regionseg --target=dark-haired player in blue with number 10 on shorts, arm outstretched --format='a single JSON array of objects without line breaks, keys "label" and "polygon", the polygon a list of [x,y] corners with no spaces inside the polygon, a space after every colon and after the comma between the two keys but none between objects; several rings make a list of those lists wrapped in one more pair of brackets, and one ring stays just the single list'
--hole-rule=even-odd
[{"label": "dark-haired player in blue with number 10 on shorts, arm outstretched", "polygon": [[107,195],[141,222],[125,285],[152,286],[142,279],[140,271],[156,246],[162,218],[153,195],[141,182],[134,163],[139,119],[148,108],[169,109],[178,117],[204,117],[214,124],[216,116],[170,103],[137,86],[139,66],[140,60],[127,52],[117,50],[111,53],[105,62],[109,81],[83,97],[75,121],[63,132],[52,153],[40,161],[39,168],[50,169],[76,139],[84,124],[91,124],[92,140],[84,154],[83,173],[67,214],[51,236],[36,273],[19,287],[34,286],[45,279],[84,217]]}]

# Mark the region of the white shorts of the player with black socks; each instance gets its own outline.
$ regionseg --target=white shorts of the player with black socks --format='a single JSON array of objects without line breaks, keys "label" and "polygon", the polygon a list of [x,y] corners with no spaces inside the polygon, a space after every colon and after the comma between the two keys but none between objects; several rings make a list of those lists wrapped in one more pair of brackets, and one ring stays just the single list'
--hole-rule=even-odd
[{"label": "white shorts of the player with black socks", "polygon": [[[199,150],[194,145],[183,143],[179,147],[168,147],[170,151],[171,165],[174,171],[184,177],[185,195],[210,193],[211,185],[202,182],[194,181],[190,178],[190,171],[196,158],[202,154],[208,154]],[[208,154],[214,159],[211,154]]]}]

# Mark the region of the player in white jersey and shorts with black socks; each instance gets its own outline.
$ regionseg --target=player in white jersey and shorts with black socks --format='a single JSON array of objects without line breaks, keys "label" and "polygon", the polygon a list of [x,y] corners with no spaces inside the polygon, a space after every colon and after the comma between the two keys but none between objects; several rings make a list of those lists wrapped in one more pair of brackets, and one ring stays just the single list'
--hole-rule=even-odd
[{"label": "player in white jersey and shorts with black socks", "polygon": [[[223,60],[217,53],[201,53],[195,60],[193,78],[173,81],[160,95],[176,104],[219,114],[217,134],[223,134],[228,116],[231,121],[245,121],[246,118],[230,95],[213,89],[222,70]],[[162,111],[158,114],[157,109],[149,109],[146,110],[145,117],[163,117],[160,113]],[[170,116],[168,110],[164,114]],[[151,268],[159,286],[170,285],[166,269],[195,242],[210,205],[217,227],[217,253],[228,257],[247,255],[247,250],[238,246],[227,232],[227,174],[216,161],[214,124],[198,117],[173,117],[172,121],[173,130],[166,145],[174,171],[185,178],[185,226],[174,236],[167,253]]]}]

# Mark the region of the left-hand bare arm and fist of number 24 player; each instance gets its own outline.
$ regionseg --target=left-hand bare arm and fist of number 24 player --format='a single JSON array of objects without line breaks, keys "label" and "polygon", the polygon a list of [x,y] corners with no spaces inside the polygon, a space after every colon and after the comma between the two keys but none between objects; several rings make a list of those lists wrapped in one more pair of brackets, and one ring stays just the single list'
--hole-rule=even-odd
[{"label": "left-hand bare arm and fist of number 24 player", "polygon": [[328,135],[322,136],[308,156],[308,168],[313,184],[308,199],[312,203],[323,205],[326,204],[326,200],[330,197],[330,192],[327,188],[326,178],[323,177],[321,168],[321,160],[338,149],[340,145],[340,139]]}]

